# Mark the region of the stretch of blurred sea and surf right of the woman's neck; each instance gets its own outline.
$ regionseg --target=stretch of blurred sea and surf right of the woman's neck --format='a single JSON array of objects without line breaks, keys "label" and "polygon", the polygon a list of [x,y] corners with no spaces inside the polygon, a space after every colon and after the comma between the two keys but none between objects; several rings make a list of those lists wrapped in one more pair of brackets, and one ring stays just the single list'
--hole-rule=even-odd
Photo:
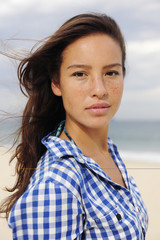
[{"label": "stretch of blurred sea and surf right of the woman's neck", "polygon": [[160,162],[160,121],[112,121],[109,136],[127,158]]}]

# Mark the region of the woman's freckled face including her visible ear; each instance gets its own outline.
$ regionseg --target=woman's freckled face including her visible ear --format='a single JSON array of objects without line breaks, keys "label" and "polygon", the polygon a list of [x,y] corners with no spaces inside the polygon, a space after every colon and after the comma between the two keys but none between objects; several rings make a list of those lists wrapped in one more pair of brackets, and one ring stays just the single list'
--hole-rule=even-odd
[{"label": "woman's freckled face including her visible ear", "polygon": [[92,34],[70,44],[62,54],[60,84],[52,83],[62,96],[66,122],[84,128],[103,128],[121,102],[122,53],[106,34]]}]

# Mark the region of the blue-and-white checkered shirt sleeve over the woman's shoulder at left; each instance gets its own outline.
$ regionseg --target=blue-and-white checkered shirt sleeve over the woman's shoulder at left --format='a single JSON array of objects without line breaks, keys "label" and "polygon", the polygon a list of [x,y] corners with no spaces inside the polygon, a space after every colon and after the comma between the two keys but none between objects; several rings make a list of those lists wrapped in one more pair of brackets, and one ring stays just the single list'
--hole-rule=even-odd
[{"label": "blue-and-white checkered shirt sleeve over the woman's shoulder at left", "polygon": [[9,225],[14,240],[81,239],[83,209],[67,188],[47,180],[23,194]]}]

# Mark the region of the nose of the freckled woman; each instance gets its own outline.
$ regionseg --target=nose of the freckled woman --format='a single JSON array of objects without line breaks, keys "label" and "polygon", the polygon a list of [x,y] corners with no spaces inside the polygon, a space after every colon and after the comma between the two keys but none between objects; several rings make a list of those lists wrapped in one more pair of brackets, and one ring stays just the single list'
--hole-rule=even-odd
[{"label": "nose of the freckled woman", "polygon": [[91,95],[99,99],[107,96],[107,88],[102,76],[95,76],[91,81]]}]

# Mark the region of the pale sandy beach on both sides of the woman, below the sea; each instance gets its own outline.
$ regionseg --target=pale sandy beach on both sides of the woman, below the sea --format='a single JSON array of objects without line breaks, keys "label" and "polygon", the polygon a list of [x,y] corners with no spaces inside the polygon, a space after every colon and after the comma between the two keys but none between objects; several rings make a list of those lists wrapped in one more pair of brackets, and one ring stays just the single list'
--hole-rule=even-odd
[{"label": "pale sandy beach on both sides of the woman, below the sea", "polygon": [[[9,166],[10,154],[4,155],[4,150],[0,150],[0,201],[7,196],[2,189],[5,186],[12,186],[15,177],[14,164]],[[160,163],[147,163],[124,160],[130,175],[134,177],[141,191],[143,200],[147,206],[149,214],[149,228],[146,240],[160,239]],[[11,240],[12,233],[8,228],[5,219],[0,219],[0,239]]]}]

